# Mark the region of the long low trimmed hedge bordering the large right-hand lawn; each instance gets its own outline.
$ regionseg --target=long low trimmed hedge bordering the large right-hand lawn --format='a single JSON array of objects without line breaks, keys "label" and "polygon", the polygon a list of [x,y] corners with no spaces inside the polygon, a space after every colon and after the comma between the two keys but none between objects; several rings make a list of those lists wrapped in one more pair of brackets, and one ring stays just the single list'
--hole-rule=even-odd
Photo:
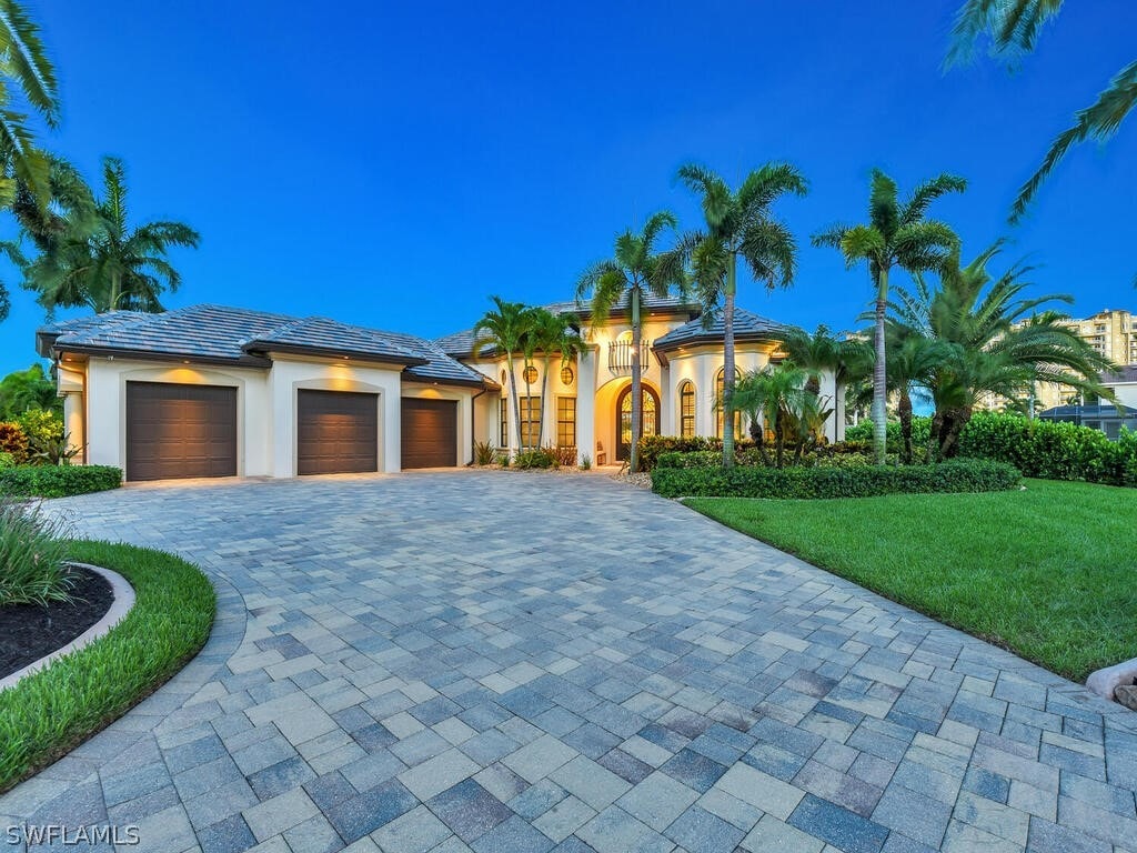
[{"label": "long low trimmed hedge bordering the large right-hand lawn", "polygon": [[846,498],[897,494],[1007,491],[1018,469],[987,459],[938,465],[839,467],[659,467],[652,488],[663,497]]}]

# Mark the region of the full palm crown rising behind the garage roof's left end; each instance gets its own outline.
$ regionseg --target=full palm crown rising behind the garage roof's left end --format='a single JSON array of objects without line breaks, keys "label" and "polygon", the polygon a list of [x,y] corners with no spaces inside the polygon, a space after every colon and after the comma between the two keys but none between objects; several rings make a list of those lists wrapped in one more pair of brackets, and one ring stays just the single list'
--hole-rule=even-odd
[{"label": "full palm crown rising behind the garage roof's left end", "polygon": [[126,174],[121,160],[102,162],[103,194],[93,215],[76,208],[66,226],[24,268],[24,285],[39,292],[50,313],[57,307],[108,310],[164,310],[160,296],[175,291],[182,278],[167,259],[175,246],[197,248],[200,235],[180,222],[127,221]]}]

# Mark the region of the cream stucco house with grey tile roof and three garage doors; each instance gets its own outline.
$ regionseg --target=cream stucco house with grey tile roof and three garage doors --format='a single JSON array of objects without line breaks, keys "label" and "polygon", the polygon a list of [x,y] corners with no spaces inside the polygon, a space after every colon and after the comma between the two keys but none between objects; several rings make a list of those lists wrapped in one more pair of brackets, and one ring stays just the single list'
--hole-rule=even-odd
[{"label": "cream stucco house with grey tile roof and three garage doors", "polygon": [[[518,366],[526,442],[543,409],[545,444],[598,464],[626,458],[626,308],[594,326],[575,303],[548,307],[575,314],[589,346],[568,363],[551,359],[546,399],[541,359]],[[698,307],[652,297],[642,321],[644,432],[721,434],[722,321],[705,325]],[[740,373],[780,357],[781,329],[737,312]],[[473,345],[470,331],[431,341],[215,305],[113,312],[36,333],[40,354],[58,366],[72,445],[127,480],[395,472],[468,464],[479,441],[516,450],[505,355]],[[838,440],[843,399],[831,375],[822,395],[836,401],[827,430]]]}]

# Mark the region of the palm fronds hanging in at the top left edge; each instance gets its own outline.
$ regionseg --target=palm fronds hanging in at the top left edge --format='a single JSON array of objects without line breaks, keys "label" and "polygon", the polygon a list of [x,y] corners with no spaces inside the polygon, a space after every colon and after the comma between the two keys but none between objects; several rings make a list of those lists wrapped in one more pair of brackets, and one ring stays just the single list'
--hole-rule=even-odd
[{"label": "palm fronds hanging in at the top left edge", "polygon": [[[47,197],[48,163],[35,144],[28,118],[48,127],[59,122],[59,88],[40,28],[18,0],[0,0],[0,206],[10,207],[18,187],[36,204]],[[9,254],[10,252],[6,252]],[[8,316],[8,290],[0,283],[0,320]]]}]

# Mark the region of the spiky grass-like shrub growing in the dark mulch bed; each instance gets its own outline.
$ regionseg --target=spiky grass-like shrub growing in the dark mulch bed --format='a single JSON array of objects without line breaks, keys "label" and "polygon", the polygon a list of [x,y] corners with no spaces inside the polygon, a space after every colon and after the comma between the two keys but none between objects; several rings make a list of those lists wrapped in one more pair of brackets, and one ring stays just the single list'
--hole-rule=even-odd
[{"label": "spiky grass-like shrub growing in the dark mulch bed", "polygon": [[64,523],[38,504],[0,498],[0,606],[66,601]]}]

